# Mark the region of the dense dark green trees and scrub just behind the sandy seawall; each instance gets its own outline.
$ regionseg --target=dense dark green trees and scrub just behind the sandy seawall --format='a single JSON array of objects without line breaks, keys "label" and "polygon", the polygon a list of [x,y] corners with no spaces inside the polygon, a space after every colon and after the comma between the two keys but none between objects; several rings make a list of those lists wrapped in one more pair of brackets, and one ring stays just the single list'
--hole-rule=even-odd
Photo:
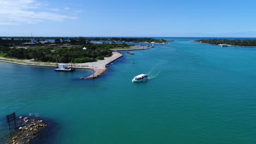
[{"label": "dense dark green trees and scrub just behind the sandy seawall", "polygon": [[[1,41],[0,41],[1,42]],[[9,43],[9,42],[8,42]],[[19,59],[34,59],[42,62],[85,63],[112,56],[110,49],[126,47],[127,44],[92,44],[83,42],[80,46],[57,47],[48,44],[28,46],[26,49],[18,48],[14,44],[0,43],[0,56]],[[18,44],[14,41],[15,44]],[[14,47],[13,47],[14,46]],[[86,47],[86,50],[83,50]]]}]

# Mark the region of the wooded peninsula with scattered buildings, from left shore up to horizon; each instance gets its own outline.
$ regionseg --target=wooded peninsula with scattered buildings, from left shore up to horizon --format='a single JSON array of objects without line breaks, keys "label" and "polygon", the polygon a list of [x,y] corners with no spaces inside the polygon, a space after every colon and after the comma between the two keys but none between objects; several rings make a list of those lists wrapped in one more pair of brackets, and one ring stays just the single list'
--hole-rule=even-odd
[{"label": "wooded peninsula with scattered buildings, from left shore up to horizon", "polygon": [[86,63],[112,56],[110,49],[127,49],[132,46],[124,43],[94,44],[85,38],[62,42],[57,38],[53,43],[46,42],[40,43],[40,40],[35,39],[0,39],[0,57],[34,59],[41,62]]}]

